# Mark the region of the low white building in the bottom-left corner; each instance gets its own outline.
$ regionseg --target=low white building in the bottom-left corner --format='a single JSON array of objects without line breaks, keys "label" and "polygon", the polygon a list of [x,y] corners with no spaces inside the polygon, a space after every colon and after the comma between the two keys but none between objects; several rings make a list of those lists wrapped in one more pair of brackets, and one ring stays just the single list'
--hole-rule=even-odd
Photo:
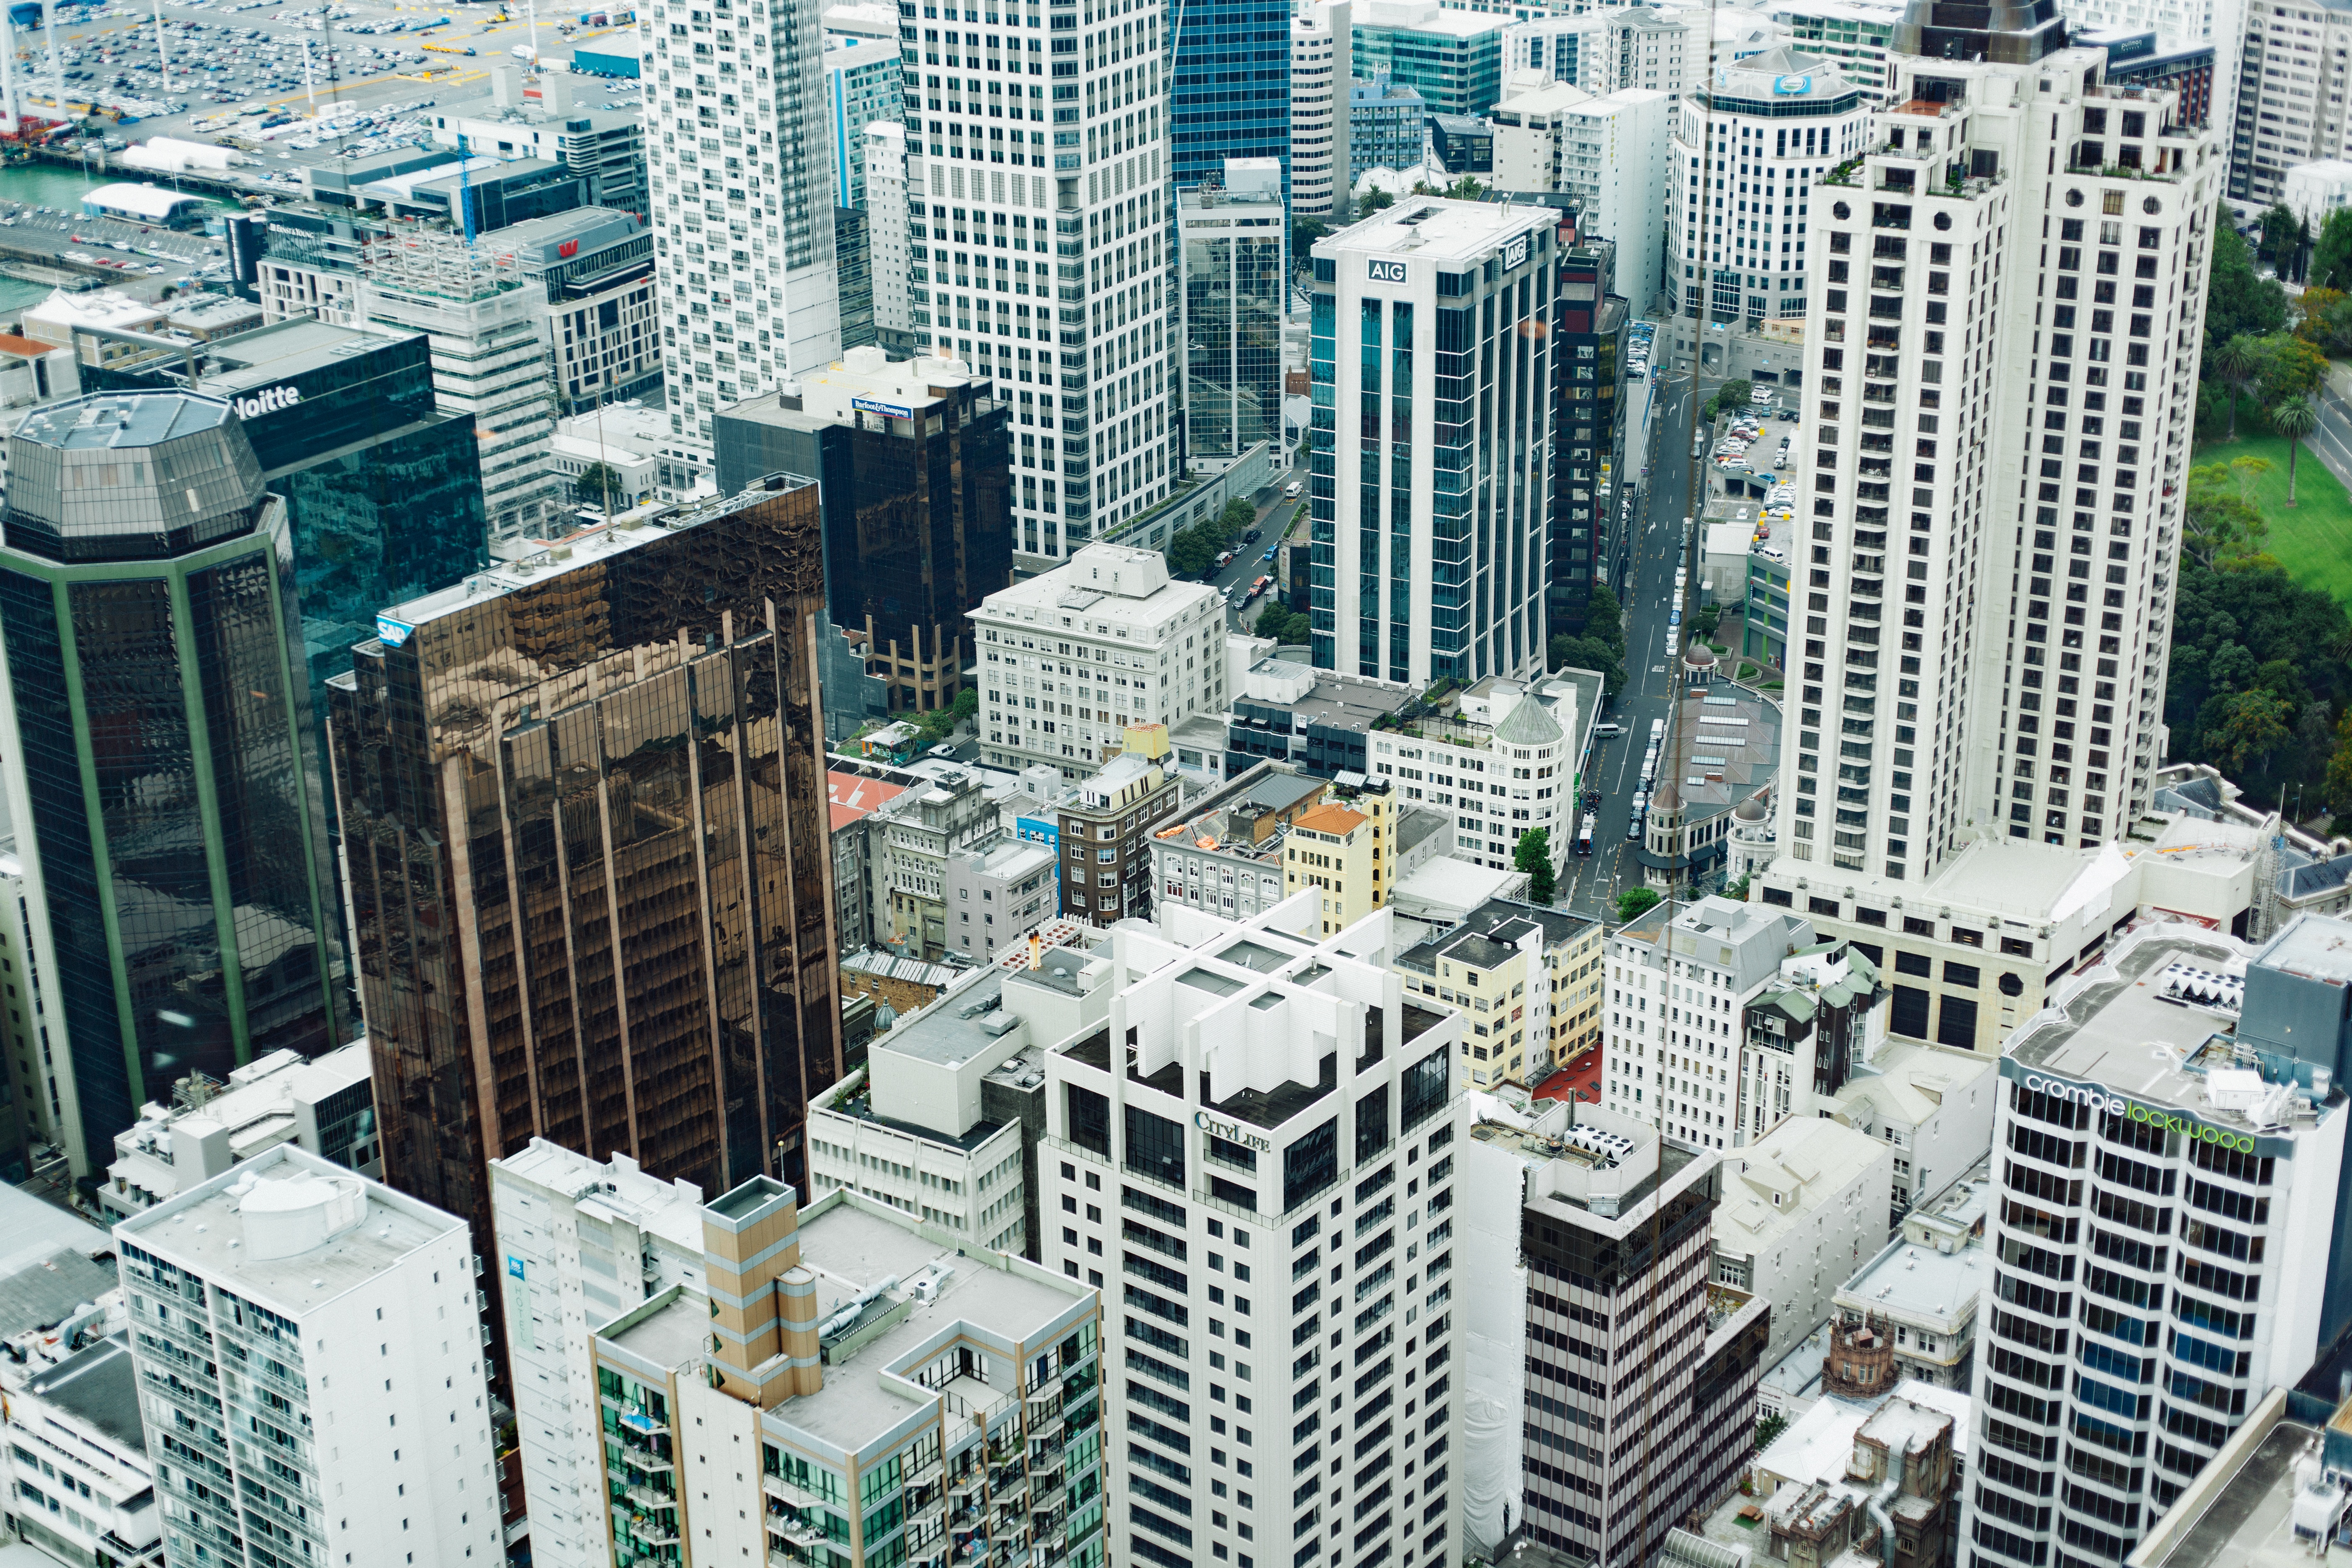
[{"label": "low white building in the bottom-left corner", "polygon": [[162,1568],[162,1509],[129,1335],[19,1371],[0,1432],[16,1540],[75,1568]]}]

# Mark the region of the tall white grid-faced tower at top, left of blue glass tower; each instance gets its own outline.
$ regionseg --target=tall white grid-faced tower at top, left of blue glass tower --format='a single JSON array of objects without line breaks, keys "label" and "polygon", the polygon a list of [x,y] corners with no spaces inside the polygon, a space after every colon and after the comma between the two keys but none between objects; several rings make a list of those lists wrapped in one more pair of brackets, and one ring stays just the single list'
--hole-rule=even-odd
[{"label": "tall white grid-faced tower at top, left of blue glass tower", "polygon": [[1047,571],[1181,477],[1167,5],[981,16],[901,26],[915,331],[1037,433],[1014,468],[1014,567]]}]

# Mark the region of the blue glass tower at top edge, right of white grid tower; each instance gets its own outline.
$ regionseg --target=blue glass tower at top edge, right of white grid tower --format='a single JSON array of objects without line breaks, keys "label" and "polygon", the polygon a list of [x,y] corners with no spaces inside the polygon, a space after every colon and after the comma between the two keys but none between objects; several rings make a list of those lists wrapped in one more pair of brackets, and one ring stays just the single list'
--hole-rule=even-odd
[{"label": "blue glass tower at top edge, right of white grid tower", "polygon": [[1218,183],[1228,158],[1279,158],[1291,195],[1291,7],[1282,0],[1169,5],[1169,141],[1178,186]]}]

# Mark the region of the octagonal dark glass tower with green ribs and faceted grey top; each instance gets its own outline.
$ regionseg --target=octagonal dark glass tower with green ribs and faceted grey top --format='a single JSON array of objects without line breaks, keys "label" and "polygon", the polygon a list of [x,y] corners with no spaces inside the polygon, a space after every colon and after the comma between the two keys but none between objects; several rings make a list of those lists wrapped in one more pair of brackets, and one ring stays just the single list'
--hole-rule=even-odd
[{"label": "octagonal dark glass tower with green ribs and faceted grey top", "polygon": [[9,437],[19,851],[78,1171],[188,1072],[343,1037],[292,562],[223,400],[99,393]]}]

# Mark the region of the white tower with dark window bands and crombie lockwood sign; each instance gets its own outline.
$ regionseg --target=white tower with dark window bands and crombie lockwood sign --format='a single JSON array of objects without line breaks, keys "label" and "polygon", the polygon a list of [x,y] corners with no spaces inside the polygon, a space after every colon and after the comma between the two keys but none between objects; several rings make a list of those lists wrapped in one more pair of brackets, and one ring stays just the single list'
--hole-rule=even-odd
[{"label": "white tower with dark window bands and crombie lockwood sign", "polygon": [[1969,1460],[1983,1568],[2124,1561],[2343,1333],[2347,936],[2305,914],[2249,954],[2147,922],[2009,1039]]}]

